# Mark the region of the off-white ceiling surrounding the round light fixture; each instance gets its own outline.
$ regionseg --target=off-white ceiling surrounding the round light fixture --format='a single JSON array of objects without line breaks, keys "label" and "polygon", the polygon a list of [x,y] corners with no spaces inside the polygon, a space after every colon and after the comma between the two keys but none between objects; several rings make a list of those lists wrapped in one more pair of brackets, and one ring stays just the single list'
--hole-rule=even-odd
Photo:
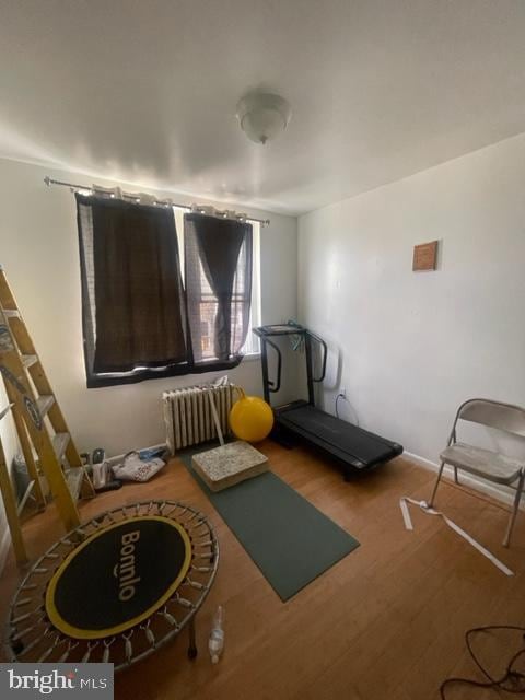
[{"label": "off-white ceiling surrounding the round light fixture", "polygon": [[291,214],[525,131],[524,0],[3,0],[0,65],[0,156]]}]

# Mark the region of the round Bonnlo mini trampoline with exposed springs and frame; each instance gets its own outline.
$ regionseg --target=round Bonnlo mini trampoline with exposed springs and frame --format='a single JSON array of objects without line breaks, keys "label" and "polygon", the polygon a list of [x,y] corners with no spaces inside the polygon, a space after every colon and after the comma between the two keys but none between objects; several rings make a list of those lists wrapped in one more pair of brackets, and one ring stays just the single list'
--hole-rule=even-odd
[{"label": "round Bonnlo mini trampoline with exposed springs and frame", "polygon": [[11,604],[11,661],[109,662],[119,670],[189,630],[213,583],[219,545],[208,520],[175,501],[107,511],[58,540]]}]

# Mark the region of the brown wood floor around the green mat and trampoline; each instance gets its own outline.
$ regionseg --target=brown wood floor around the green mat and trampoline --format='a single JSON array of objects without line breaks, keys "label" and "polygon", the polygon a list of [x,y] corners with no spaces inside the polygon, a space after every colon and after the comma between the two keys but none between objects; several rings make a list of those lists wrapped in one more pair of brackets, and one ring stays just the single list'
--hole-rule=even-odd
[{"label": "brown wood floor around the green mat and trampoline", "polygon": [[[283,604],[178,460],[147,485],[132,485],[82,505],[82,516],[122,502],[164,497],[198,508],[217,527],[221,562],[197,618],[199,656],[186,657],[186,634],[120,674],[117,700],[427,700],[447,676],[482,679],[468,660],[464,631],[491,623],[525,625],[525,514],[514,544],[501,546],[508,511],[444,482],[438,508],[516,575],[508,578],[441,518],[413,512],[405,530],[399,497],[428,498],[434,475],[398,458],[365,479],[345,483],[307,450],[266,442],[271,468],[361,547]],[[51,510],[30,521],[32,555],[60,533]],[[10,558],[0,582],[1,610],[18,580]],[[210,664],[207,640],[218,604],[225,607],[226,649]],[[520,635],[501,633],[479,649],[500,673]],[[497,698],[493,691],[451,688],[447,698]]]}]

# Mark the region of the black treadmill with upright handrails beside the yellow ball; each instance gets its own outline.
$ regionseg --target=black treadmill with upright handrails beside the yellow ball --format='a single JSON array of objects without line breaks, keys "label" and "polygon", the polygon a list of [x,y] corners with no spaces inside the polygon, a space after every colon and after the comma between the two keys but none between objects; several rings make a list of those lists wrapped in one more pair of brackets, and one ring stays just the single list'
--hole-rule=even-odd
[{"label": "black treadmill with upright handrails beside the yellow ball", "polygon": [[[253,329],[260,338],[262,364],[262,386],[265,400],[270,404],[270,395],[281,387],[282,353],[279,346],[271,340],[277,336],[293,337],[296,348],[304,347],[306,359],[306,381],[308,400],[296,400],[283,406],[272,407],[275,415],[273,436],[291,433],[320,448],[335,457],[345,469],[345,479],[362,474],[376,465],[384,464],[402,454],[402,446],[374,433],[358,428],[315,406],[314,383],[323,382],[326,375],[328,348],[326,342],[311,330],[299,324],[259,326]],[[313,350],[315,343],[322,351],[320,375],[314,376]],[[268,349],[277,358],[277,377],[268,376]]]}]

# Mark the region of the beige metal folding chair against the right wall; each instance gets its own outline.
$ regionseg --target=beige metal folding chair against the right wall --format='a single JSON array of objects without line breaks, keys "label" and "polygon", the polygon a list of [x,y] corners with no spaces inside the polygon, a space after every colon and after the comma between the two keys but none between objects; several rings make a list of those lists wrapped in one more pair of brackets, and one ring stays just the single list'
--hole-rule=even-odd
[{"label": "beige metal folding chair against the right wall", "polygon": [[445,464],[454,467],[456,483],[457,471],[463,469],[488,481],[503,483],[515,489],[514,506],[503,539],[503,546],[509,547],[525,486],[525,457],[522,459],[510,457],[500,452],[457,442],[456,425],[458,420],[479,423],[525,439],[525,409],[486,398],[472,398],[462,404],[457,409],[448,444],[440,455],[440,471],[429,502],[432,508]]}]

